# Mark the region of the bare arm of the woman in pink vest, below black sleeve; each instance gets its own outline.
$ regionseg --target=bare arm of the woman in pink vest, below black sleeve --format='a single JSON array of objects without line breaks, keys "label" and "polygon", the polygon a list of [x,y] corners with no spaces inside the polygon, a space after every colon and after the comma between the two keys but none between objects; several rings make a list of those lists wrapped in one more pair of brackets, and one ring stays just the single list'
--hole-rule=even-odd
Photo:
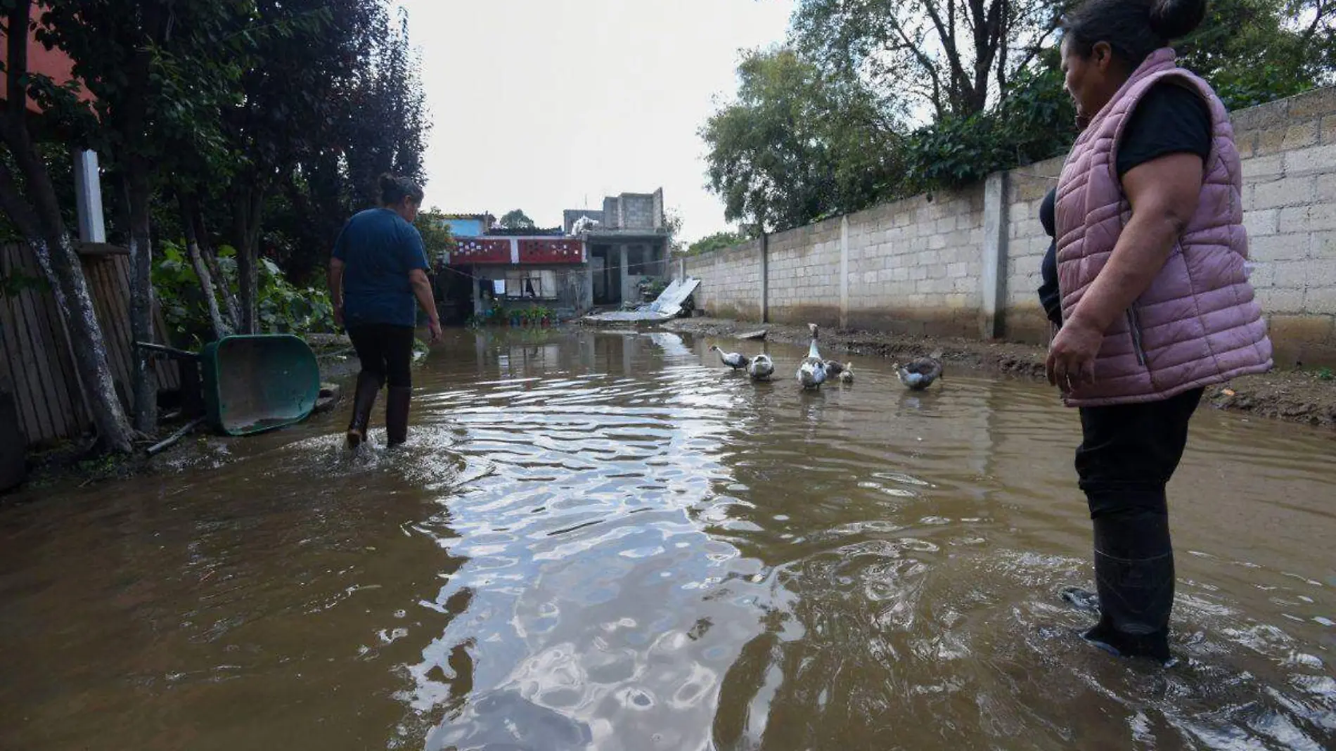
[{"label": "bare arm of the woman in pink vest, below black sleeve", "polygon": [[1046,363],[1050,384],[1094,381],[1094,358],[1105,331],[1156,279],[1197,210],[1201,172],[1201,156],[1168,154],[1122,176],[1132,219],[1053,339]]}]

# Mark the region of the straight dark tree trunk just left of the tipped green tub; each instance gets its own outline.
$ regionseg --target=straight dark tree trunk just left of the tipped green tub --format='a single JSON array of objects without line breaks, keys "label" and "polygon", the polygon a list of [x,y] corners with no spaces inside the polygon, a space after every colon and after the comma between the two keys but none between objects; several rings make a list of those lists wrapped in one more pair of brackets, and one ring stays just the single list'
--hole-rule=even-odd
[{"label": "straight dark tree trunk just left of the tipped green tub", "polygon": [[[130,335],[136,342],[154,341],[152,238],[148,214],[150,186],[147,167],[130,164]],[[158,429],[158,389],[150,369],[148,353],[134,347],[135,428],[144,434]]]}]

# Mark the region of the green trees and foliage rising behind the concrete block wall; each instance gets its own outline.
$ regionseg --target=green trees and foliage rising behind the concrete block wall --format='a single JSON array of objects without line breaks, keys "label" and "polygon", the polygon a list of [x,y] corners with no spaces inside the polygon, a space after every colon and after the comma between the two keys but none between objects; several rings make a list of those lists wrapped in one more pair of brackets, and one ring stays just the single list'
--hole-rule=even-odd
[{"label": "green trees and foliage rising behind the concrete block wall", "polygon": [[[799,0],[792,48],[748,53],[701,130],[725,216],[787,229],[1063,154],[1054,19],[1078,4]],[[1336,80],[1336,4],[1212,0],[1176,48],[1226,107],[1272,102]]]}]

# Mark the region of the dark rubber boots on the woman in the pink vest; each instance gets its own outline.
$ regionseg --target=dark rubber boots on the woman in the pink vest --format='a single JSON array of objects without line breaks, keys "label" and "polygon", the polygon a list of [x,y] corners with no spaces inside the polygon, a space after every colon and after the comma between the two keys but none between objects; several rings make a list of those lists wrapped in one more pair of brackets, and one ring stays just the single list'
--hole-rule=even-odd
[{"label": "dark rubber boots on the woman in the pink vest", "polygon": [[1094,579],[1100,623],[1082,636],[1114,655],[1170,663],[1174,571],[1168,514],[1096,518]]}]

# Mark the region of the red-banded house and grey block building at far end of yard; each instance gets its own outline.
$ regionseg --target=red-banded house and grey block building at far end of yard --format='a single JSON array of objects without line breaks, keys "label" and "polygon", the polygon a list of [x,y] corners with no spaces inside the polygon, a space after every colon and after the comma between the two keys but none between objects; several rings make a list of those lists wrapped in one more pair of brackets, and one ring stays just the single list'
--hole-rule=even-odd
[{"label": "red-banded house and grey block building at far end of yard", "polygon": [[639,302],[640,283],[665,277],[669,267],[663,188],[608,196],[601,210],[568,208],[553,230],[461,220],[452,231],[456,249],[437,289],[442,321],[456,323],[497,303],[552,307],[572,318],[595,306]]}]

